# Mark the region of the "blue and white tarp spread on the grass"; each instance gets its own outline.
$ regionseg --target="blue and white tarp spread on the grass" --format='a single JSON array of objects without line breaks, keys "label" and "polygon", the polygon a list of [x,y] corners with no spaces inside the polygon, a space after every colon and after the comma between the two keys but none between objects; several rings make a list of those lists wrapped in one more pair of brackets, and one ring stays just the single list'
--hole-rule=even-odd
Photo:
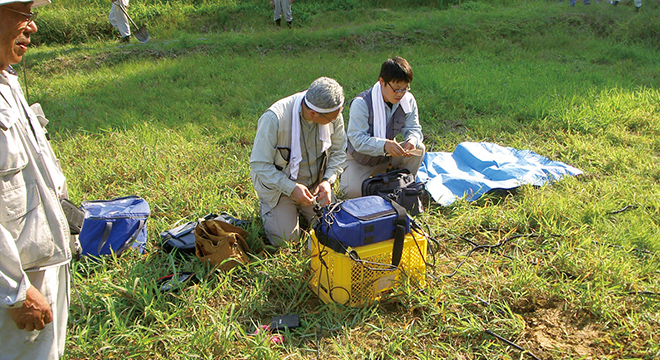
[{"label": "blue and white tarp spread on the grass", "polygon": [[530,150],[517,150],[486,142],[463,142],[453,153],[431,152],[417,173],[417,181],[437,203],[447,206],[457,199],[479,199],[493,189],[514,189],[520,185],[541,186],[582,171],[551,161]]}]

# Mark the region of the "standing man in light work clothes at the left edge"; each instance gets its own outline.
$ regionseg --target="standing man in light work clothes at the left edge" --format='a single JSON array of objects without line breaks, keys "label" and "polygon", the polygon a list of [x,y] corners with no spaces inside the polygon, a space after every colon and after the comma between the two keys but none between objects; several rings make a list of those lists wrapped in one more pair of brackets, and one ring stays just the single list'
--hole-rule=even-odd
[{"label": "standing man in light work clothes at the left edge", "polygon": [[[10,65],[37,31],[48,0],[0,0],[0,359],[57,359],[69,311],[71,236],[66,181]],[[35,113],[38,112],[39,116]]]}]

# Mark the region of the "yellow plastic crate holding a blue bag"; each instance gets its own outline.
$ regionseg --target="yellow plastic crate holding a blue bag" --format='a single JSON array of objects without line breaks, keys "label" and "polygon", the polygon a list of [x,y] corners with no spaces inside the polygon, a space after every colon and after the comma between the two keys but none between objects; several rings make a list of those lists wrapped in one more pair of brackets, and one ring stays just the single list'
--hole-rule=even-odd
[{"label": "yellow plastic crate holding a blue bag", "polygon": [[426,237],[414,231],[406,235],[396,269],[392,266],[393,244],[394,239],[350,248],[357,254],[354,260],[320,244],[312,231],[310,288],[326,304],[358,307],[378,301],[384,293],[396,289],[403,276],[415,285],[426,286]]}]

